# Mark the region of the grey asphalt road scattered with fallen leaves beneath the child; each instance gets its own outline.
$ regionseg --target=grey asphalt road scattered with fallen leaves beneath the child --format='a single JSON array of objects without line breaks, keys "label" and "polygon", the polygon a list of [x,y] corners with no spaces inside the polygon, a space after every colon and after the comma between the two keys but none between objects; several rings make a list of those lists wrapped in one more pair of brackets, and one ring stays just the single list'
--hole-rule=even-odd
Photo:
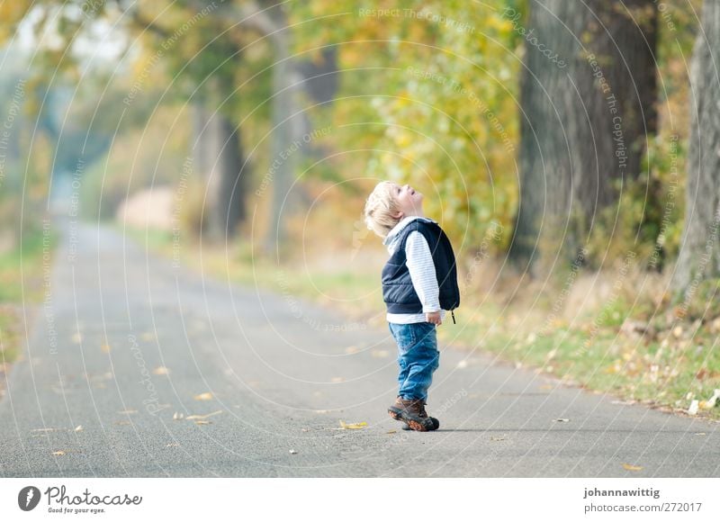
[{"label": "grey asphalt road scattered with fallen leaves beneath the child", "polygon": [[4,383],[0,476],[720,472],[717,423],[619,404],[452,347],[441,347],[428,405],[440,430],[401,431],[386,413],[396,375],[389,330],[203,278],[112,229],[64,227],[46,302]]}]

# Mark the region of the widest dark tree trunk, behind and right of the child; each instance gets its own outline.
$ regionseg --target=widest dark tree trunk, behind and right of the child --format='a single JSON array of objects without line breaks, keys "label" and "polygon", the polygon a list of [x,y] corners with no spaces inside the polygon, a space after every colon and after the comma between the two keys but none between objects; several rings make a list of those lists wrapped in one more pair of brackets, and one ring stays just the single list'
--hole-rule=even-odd
[{"label": "widest dark tree trunk, behind and right of the child", "polygon": [[527,27],[509,15],[526,40],[510,257],[536,268],[574,257],[640,171],[656,126],[657,12],[653,0],[535,0]]}]

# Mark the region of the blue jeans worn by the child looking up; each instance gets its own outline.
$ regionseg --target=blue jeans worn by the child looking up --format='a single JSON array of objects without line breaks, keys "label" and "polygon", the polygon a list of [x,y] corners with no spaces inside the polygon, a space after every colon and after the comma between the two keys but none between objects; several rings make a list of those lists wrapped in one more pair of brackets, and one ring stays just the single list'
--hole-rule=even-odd
[{"label": "blue jeans worn by the child looking up", "polygon": [[388,325],[398,343],[398,395],[406,400],[427,401],[428,388],[440,361],[435,325],[430,322]]}]

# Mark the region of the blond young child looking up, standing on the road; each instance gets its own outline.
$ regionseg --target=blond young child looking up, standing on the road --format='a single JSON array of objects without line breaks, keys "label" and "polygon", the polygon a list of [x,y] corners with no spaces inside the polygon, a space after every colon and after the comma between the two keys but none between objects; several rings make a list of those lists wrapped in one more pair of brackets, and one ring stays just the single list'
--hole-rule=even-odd
[{"label": "blond young child looking up, standing on the road", "polygon": [[[460,304],[455,254],[437,221],[425,217],[423,194],[410,185],[377,184],[365,202],[365,223],[383,238],[390,259],[383,268],[383,300],[398,344],[399,392],[388,409],[403,429],[431,431],[440,423],[425,405],[437,370],[437,325]],[[455,314],[453,314],[455,322]]]}]

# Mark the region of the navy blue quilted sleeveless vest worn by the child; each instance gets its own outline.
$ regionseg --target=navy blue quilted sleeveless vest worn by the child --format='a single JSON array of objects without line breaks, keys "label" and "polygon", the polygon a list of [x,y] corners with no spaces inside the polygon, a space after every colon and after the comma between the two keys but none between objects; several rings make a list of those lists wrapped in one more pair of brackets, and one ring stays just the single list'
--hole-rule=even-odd
[{"label": "navy blue quilted sleeveless vest worn by the child", "polygon": [[412,286],[406,263],[405,242],[410,232],[419,231],[428,241],[435,263],[437,286],[440,289],[440,307],[452,311],[460,306],[457,287],[457,267],[450,239],[437,223],[412,220],[401,229],[398,247],[383,267],[383,300],[390,313],[422,313],[422,303]]}]

